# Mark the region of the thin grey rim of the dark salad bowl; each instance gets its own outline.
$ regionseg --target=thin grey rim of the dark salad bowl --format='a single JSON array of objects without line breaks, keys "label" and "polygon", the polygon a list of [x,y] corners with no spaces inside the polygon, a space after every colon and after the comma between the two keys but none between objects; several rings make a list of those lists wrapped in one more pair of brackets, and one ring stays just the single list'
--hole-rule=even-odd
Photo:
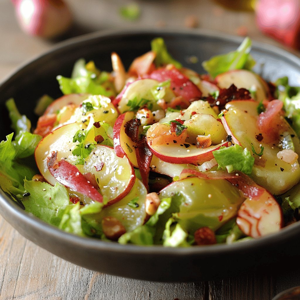
[{"label": "thin grey rim of the dark salad bowl", "polygon": [[[207,38],[215,38],[221,39],[225,42],[233,42],[233,43],[241,43],[244,39],[243,37],[233,36],[229,34],[224,34],[222,32],[216,32],[213,30],[206,29],[198,29],[194,30],[169,30],[169,29],[114,29],[114,30],[105,30],[100,32],[88,33],[79,37],[70,38],[66,41],[60,42],[53,46],[48,51],[38,55],[34,58],[31,58],[25,61],[23,64],[20,64],[15,70],[9,73],[4,79],[0,82],[0,88],[3,88],[4,85],[9,84],[9,81],[13,79],[13,77],[18,76],[20,72],[31,64],[34,64],[36,61],[48,56],[53,55],[55,52],[59,52],[61,49],[73,46],[75,44],[80,44],[86,41],[92,41],[94,39],[99,38],[117,38],[118,36],[134,36],[134,35],[189,35],[189,36],[201,36]],[[277,46],[265,44],[258,41],[252,41],[252,49],[264,50],[265,52],[269,52],[273,55],[279,55],[283,57],[285,60],[295,63],[300,67],[300,55],[299,53],[291,53],[291,49],[282,49]],[[2,190],[0,190],[0,205],[4,207],[4,210],[10,212],[10,214],[14,215],[16,218],[19,218],[23,223],[26,223],[29,226],[37,228],[40,233],[45,235],[50,235],[52,238],[62,239],[64,242],[71,243],[73,245],[78,245],[83,248],[89,248],[94,250],[109,250],[116,253],[124,253],[130,252],[132,254],[155,254],[155,255],[215,255],[219,253],[234,253],[245,250],[256,250],[264,247],[266,244],[276,244],[281,242],[282,238],[288,239],[292,238],[295,235],[297,229],[300,229],[300,223],[296,222],[287,227],[282,228],[279,232],[256,238],[247,242],[237,242],[233,244],[215,244],[208,245],[203,247],[187,247],[187,248],[179,248],[179,247],[164,247],[162,245],[153,245],[153,246],[138,246],[133,244],[119,244],[117,242],[107,242],[102,241],[97,238],[91,237],[82,237],[75,234],[71,234],[65,232],[55,226],[52,226],[41,219],[35,217],[34,215],[27,213],[22,210],[15,202],[9,199]],[[2,211],[0,211],[2,214]],[[5,219],[5,215],[2,214]],[[8,222],[10,223],[10,222]],[[18,230],[16,228],[16,230]]]}]

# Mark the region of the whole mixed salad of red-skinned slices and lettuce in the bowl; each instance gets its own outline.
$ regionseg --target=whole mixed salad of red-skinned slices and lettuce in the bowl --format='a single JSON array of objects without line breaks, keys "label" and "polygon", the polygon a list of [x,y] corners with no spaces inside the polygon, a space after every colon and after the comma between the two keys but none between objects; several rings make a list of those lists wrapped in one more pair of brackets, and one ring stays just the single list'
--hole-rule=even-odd
[{"label": "whole mixed salad of red-skinned slices and lettuce in the bowl", "polygon": [[299,219],[300,88],[252,71],[251,41],[183,67],[162,38],[125,69],[76,61],[33,129],[13,99],[0,187],[28,213],[121,244],[233,243]]}]

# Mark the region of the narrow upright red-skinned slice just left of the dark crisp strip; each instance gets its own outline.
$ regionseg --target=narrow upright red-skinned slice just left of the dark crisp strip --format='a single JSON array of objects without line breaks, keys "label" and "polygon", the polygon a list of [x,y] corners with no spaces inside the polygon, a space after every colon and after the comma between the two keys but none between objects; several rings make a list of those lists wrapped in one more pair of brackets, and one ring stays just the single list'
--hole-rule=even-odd
[{"label": "narrow upright red-skinned slice just left of the dark crisp strip", "polygon": [[137,143],[133,142],[125,133],[125,124],[134,118],[134,112],[126,112],[118,117],[113,127],[113,144],[116,155],[126,156],[134,167],[138,168],[135,148]]}]

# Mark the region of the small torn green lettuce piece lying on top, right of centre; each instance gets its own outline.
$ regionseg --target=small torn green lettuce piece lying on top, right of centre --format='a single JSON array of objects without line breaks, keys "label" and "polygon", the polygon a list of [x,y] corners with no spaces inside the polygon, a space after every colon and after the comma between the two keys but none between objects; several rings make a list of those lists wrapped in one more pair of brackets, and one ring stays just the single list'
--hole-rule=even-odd
[{"label": "small torn green lettuce piece lying on top, right of centre", "polygon": [[241,171],[247,175],[252,172],[254,164],[254,157],[248,151],[247,148],[243,148],[235,144],[234,146],[215,150],[212,152],[218,165],[223,169],[227,170],[228,173],[233,171]]}]

